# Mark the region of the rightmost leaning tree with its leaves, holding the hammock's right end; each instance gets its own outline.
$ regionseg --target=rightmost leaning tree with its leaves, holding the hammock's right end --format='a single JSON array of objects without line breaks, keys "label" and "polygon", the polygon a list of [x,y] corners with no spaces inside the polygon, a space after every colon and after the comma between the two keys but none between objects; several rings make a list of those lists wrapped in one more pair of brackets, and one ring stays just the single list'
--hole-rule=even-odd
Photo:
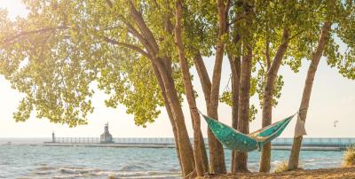
[{"label": "rightmost leaning tree with its leaves, holding the hammock's right end", "polygon": [[[306,120],[309,109],[312,86],[322,55],[327,57],[327,63],[330,66],[336,66],[339,73],[344,77],[355,79],[355,61],[354,61],[354,20],[355,20],[355,6],[351,1],[337,2],[325,1],[321,4],[324,8],[324,14],[319,17],[323,22],[319,29],[319,40],[317,47],[312,51],[311,64],[308,68],[306,79],[304,82],[304,92],[301,99],[301,105],[298,112],[298,121],[301,127],[296,126],[294,143],[288,160],[288,169],[296,169],[298,167],[299,153],[301,151],[302,139],[304,135],[304,122]],[[332,29],[332,24],[337,27]],[[342,52],[338,49],[338,44],[335,42],[335,35],[340,37],[343,43],[346,44],[349,51]],[[311,47],[312,49],[312,47]],[[344,63],[342,63],[344,62]],[[298,127],[298,128],[297,128]]]}]

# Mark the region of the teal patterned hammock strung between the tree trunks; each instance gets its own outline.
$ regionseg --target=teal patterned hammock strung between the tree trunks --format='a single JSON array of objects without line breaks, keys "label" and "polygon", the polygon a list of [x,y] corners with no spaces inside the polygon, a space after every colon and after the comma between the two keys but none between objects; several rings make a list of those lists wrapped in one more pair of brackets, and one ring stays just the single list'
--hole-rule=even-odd
[{"label": "teal patterned hammock strung between the tree trunks", "polygon": [[252,152],[256,149],[260,151],[264,144],[280,136],[282,131],[288,126],[289,121],[291,121],[296,114],[264,128],[260,128],[248,135],[242,134],[238,130],[220,121],[209,118],[202,113],[201,115],[207,121],[209,129],[216,136],[217,140],[227,149],[239,152]]}]

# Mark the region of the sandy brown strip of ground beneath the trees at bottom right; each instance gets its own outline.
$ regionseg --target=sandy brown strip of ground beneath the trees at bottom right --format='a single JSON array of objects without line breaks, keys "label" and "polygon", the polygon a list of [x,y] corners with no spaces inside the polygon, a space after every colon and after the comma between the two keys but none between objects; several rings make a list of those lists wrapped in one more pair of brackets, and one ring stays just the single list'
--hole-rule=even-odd
[{"label": "sandy brown strip of ground beneath the trees at bottom right", "polygon": [[205,178],[354,178],[355,179],[355,167],[340,167],[340,168],[327,168],[327,169],[306,169],[306,170],[296,170],[281,173],[272,174],[260,174],[260,173],[250,173],[250,174],[236,174],[236,175],[208,175]]}]

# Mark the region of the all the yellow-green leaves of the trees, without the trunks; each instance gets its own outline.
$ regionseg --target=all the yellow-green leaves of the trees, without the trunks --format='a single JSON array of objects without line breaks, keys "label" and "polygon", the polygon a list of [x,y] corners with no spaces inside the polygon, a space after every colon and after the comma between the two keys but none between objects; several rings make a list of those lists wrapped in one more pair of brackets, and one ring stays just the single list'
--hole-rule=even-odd
[{"label": "all the yellow-green leaves of the trees, without the trunks", "polygon": [[[161,113],[162,94],[151,61],[127,48],[131,45],[147,51],[133,35],[130,25],[141,33],[130,14],[130,1],[106,0],[43,1],[26,0],[27,18],[7,19],[0,10],[0,74],[12,82],[12,88],[25,94],[20,101],[16,121],[26,121],[32,111],[38,118],[68,124],[85,124],[93,112],[92,84],[99,83],[109,98],[106,105],[127,107],[137,125],[153,122]],[[182,101],[184,83],[177,63],[174,43],[174,2],[133,1],[152,32],[156,51],[164,62],[171,60],[171,73]],[[217,4],[215,1],[185,1],[183,36],[189,66],[197,52],[210,57],[217,42]],[[266,43],[270,57],[275,56],[282,32],[288,28],[290,41],[283,65],[298,71],[301,59],[312,58],[325,20],[335,26],[327,42],[327,63],[343,76],[355,78],[355,11],[353,1],[235,1],[228,12],[229,31],[223,35],[226,51],[233,58],[245,54],[241,46],[253,49],[253,78],[250,97],[262,102],[267,74]],[[235,42],[236,37],[241,40]],[[339,48],[339,40],[346,46]],[[114,41],[115,43],[112,43]],[[124,44],[124,45],[122,45]],[[278,76],[273,105],[277,105],[283,85]],[[231,94],[221,101],[231,104]],[[256,107],[250,106],[250,119]]]}]

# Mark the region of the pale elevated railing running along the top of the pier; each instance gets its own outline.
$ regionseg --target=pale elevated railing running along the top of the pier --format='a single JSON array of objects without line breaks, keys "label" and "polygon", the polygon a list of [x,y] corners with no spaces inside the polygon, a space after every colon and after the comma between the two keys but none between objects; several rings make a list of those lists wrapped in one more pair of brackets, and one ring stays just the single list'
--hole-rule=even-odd
[{"label": "pale elevated railing running along the top of the pier", "polygon": [[[174,138],[114,138],[115,144],[165,144],[175,145]],[[193,144],[193,139],[190,139]],[[99,137],[56,137],[56,143],[66,144],[98,144]],[[208,144],[207,138],[204,139],[205,144]],[[274,146],[289,146],[292,145],[293,138],[276,138],[272,140]],[[355,138],[304,138],[304,146],[322,146],[322,147],[347,147],[355,145]]]}]

